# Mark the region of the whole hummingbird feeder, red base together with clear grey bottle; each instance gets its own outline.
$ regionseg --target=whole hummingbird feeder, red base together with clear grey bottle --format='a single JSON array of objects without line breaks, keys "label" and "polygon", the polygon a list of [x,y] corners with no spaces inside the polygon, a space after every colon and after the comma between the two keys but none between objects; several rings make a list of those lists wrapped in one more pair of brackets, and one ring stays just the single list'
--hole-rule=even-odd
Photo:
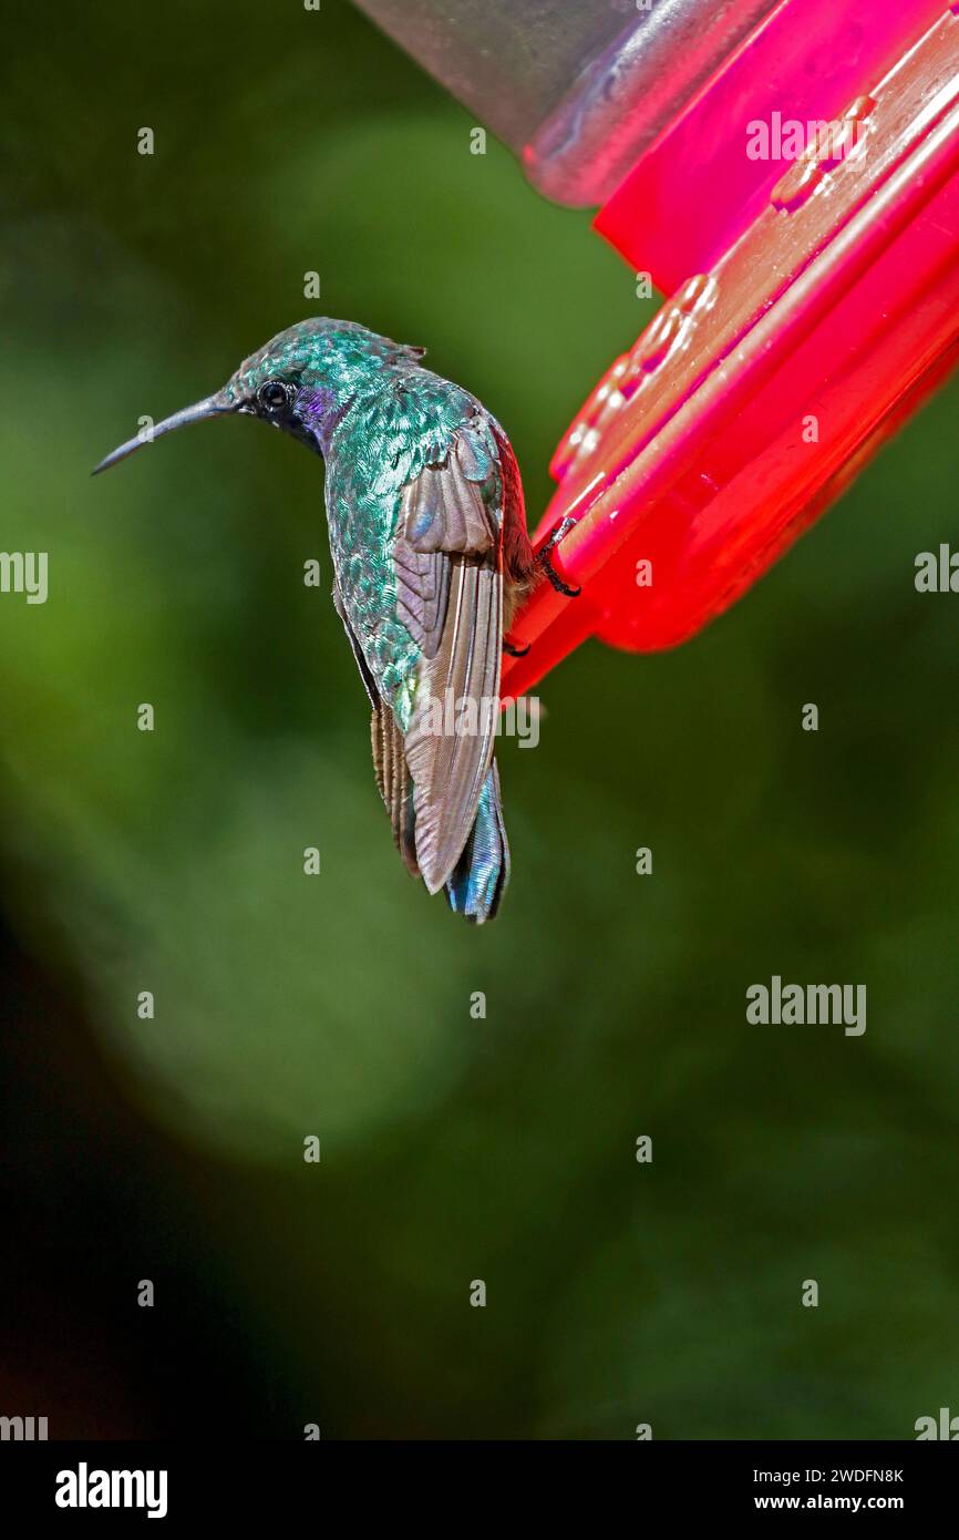
[{"label": "whole hummingbird feeder, red base together with clear grey bottle", "polygon": [[[360,0],[673,297],[553,459],[503,695],[720,614],[959,348],[959,0]],[[583,63],[585,60],[585,63]],[[793,126],[802,129],[797,140]],[[805,142],[804,142],[805,132]]]}]

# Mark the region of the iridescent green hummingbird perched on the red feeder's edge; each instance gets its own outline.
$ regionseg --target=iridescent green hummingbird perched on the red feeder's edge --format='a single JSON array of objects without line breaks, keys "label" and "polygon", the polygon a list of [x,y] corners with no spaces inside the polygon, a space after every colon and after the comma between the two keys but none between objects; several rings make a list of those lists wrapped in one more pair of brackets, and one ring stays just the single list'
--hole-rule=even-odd
[{"label": "iridescent green hummingbird perched on the red feeder's edge", "polygon": [[482,924],[510,879],[494,756],[500,656],[540,574],[506,433],[425,348],[349,320],[279,333],[226,385],[122,444],[94,476],[174,428],[229,414],[272,424],[325,462],[332,602],[373,708],[376,779],[413,876]]}]

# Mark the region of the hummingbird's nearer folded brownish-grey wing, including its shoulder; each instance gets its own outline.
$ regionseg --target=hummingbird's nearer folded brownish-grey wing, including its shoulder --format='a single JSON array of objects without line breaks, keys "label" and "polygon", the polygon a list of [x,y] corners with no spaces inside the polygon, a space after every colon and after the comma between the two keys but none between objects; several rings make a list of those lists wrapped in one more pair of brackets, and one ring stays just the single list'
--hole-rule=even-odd
[{"label": "hummingbird's nearer folded brownish-grey wing, including its shoulder", "polygon": [[422,658],[405,758],[416,858],[431,893],[476,822],[499,721],[503,638],[502,476],[479,417],[403,490],[393,565],[397,614]]}]

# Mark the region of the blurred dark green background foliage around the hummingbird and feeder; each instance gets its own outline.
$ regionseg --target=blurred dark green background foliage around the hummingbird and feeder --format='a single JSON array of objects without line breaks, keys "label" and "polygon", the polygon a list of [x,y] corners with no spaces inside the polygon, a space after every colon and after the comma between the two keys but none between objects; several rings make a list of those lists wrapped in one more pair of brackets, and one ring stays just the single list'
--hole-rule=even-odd
[{"label": "blurred dark green background foliage around the hummingbird and feeder", "polygon": [[[320,464],[237,420],[88,473],[319,311],[480,396],[534,524],[654,306],[346,3],[3,26],[0,547],[51,587],[0,596],[0,1411],[289,1438],[959,1411],[959,601],[913,588],[956,541],[956,385],[708,633],[543,682],[477,932],[393,850]],[[747,1026],[773,973],[865,983],[865,1036]]]}]

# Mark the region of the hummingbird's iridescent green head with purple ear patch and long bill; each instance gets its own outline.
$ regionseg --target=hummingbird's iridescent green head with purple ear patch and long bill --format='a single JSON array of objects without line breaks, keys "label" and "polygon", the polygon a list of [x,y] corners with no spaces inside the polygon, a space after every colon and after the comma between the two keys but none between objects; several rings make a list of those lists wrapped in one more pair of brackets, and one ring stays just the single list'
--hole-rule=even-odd
[{"label": "hummingbird's iridescent green head with purple ear patch and long bill", "polygon": [[174,428],[229,414],[262,417],[325,453],[351,400],[385,370],[408,368],[422,356],[422,348],[391,342],[353,320],[300,320],[245,359],[222,390],[122,444],[100,460],[94,476]]}]

